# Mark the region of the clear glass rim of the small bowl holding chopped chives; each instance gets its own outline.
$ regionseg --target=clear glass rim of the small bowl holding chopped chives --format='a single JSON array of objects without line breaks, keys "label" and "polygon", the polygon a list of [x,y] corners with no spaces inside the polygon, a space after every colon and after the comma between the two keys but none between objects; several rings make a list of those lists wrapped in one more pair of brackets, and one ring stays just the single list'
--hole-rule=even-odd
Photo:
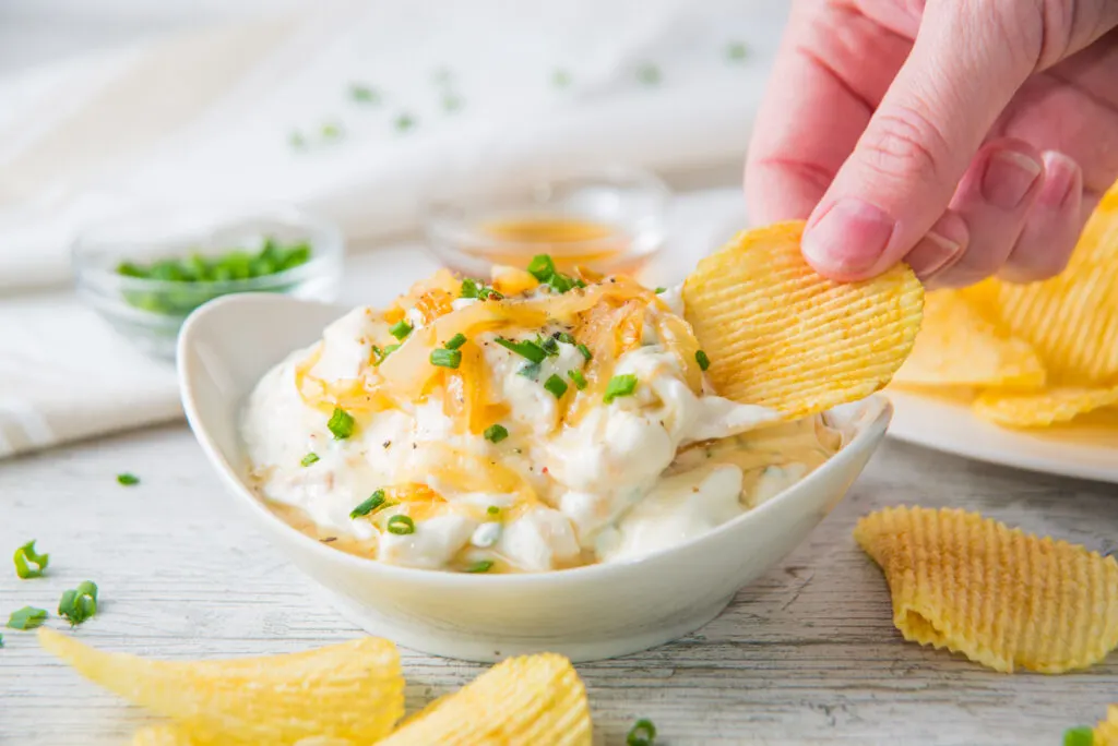
[{"label": "clear glass rim of the small bowl holding chopped chives", "polygon": [[[158,210],[158,208],[154,209]],[[167,207],[165,209],[173,213],[173,207]],[[238,223],[246,223],[253,220],[271,219],[283,221],[292,227],[305,229],[309,233],[307,241],[311,242],[311,257],[307,261],[280,272],[262,275],[259,277],[231,280],[178,281],[130,277],[121,275],[115,269],[93,260],[87,252],[87,242],[91,240],[91,237],[98,230],[105,230],[112,226],[127,222],[134,219],[135,216],[136,211],[133,210],[102,218],[86,224],[74,237],[70,241],[69,254],[70,262],[74,267],[74,281],[79,288],[94,293],[161,293],[170,290],[198,290],[220,293],[221,295],[252,293],[254,290],[269,289],[277,285],[297,284],[312,277],[329,274],[340,267],[341,259],[345,254],[344,235],[335,222],[293,204],[266,204],[256,205],[255,208],[249,207],[244,210],[229,210],[222,213],[215,213],[215,224],[199,232],[235,228]],[[176,254],[173,256],[180,255]]]}]

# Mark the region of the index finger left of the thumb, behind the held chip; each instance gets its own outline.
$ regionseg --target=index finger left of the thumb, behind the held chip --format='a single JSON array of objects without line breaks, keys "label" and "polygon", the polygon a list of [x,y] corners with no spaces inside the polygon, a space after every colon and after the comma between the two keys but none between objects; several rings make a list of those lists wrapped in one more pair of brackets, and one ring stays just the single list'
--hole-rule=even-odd
[{"label": "index finger left of the thumb, behind the held chip", "polygon": [[918,23],[845,3],[795,4],[746,160],[755,224],[808,217],[908,56]]}]

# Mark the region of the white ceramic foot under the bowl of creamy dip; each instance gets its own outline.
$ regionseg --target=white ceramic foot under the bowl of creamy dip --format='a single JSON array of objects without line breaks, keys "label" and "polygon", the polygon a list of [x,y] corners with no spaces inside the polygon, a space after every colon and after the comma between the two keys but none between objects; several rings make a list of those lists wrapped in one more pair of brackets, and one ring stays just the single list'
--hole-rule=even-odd
[{"label": "white ceramic foot under the bowl of creamy dip", "polygon": [[528,656],[540,652],[555,652],[566,656],[576,663],[582,663],[606,658],[617,658],[641,652],[665,642],[678,640],[690,632],[707,625],[730,604],[733,596],[689,613],[671,627],[657,629],[655,632],[622,632],[615,637],[600,637],[577,641],[548,640],[542,638],[503,637],[500,640],[486,639],[473,634],[448,632],[446,630],[423,630],[414,625],[401,625],[389,621],[366,606],[340,593],[325,587],[318,589],[326,601],[338,610],[347,621],[357,624],[369,634],[387,638],[392,642],[411,650],[455,658],[476,663],[495,663],[513,656]]}]

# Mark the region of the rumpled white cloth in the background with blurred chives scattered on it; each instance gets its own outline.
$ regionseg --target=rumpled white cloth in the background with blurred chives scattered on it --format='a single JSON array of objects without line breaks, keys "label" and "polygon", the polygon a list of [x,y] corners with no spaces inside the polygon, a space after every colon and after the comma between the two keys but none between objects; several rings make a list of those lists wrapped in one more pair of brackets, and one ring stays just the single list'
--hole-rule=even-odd
[{"label": "rumpled white cloth in the background with blurred chives scattered on it", "polygon": [[83,226],[153,203],[296,202],[383,236],[483,173],[740,159],[786,13],[315,2],[0,79],[0,290],[65,281]]}]

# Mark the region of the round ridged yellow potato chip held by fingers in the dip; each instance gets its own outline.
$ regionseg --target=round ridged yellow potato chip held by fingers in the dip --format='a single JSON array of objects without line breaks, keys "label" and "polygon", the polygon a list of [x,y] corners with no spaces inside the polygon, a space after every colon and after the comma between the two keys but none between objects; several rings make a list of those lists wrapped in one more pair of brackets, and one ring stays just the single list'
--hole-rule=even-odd
[{"label": "round ridged yellow potato chip held by fingers in the dip", "polygon": [[803,221],[739,233],[683,284],[686,319],[722,396],[806,417],[878,391],[920,328],[923,286],[907,265],[835,283],[799,252]]}]

